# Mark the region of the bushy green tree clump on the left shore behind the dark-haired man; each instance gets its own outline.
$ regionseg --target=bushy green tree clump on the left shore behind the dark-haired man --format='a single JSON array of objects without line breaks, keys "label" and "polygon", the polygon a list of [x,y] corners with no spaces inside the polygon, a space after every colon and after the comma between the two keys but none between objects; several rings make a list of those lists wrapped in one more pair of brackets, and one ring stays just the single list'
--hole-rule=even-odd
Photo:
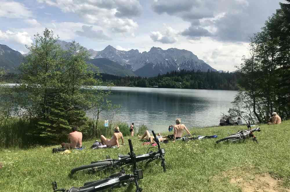
[{"label": "bushy green tree clump on the left shore behind the dark-haired man", "polygon": [[95,72],[86,64],[88,52],[76,42],[68,51],[61,50],[52,31],[35,35],[35,43],[27,47],[31,54],[21,64],[23,83],[19,92],[28,103],[21,103],[35,123],[32,133],[42,141],[58,142],[66,137],[72,125],[84,125],[85,110],[95,99]]}]

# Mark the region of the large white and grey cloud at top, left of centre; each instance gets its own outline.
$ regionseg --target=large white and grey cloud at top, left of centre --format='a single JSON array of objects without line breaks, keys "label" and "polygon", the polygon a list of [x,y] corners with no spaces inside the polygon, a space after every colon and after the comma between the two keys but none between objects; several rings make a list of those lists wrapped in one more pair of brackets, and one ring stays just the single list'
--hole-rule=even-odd
[{"label": "large white and grey cloud at top, left of centre", "polygon": [[131,19],[140,15],[141,5],[137,0],[112,0],[112,1],[92,1],[92,0],[37,0],[39,3],[46,3],[56,6],[63,12],[78,14],[86,23],[99,25],[113,32],[131,32],[138,27],[138,24]]}]

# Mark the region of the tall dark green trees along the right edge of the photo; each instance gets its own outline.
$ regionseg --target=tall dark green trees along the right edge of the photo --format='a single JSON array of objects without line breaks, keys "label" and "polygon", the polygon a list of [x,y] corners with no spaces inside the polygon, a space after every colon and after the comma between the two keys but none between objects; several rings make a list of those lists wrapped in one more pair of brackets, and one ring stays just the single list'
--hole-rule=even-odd
[{"label": "tall dark green trees along the right edge of the photo", "polygon": [[239,69],[240,91],[248,97],[243,102],[247,105],[251,100],[250,108],[260,123],[273,111],[282,119],[290,117],[290,4],[280,6],[250,39],[251,56],[243,58]]}]

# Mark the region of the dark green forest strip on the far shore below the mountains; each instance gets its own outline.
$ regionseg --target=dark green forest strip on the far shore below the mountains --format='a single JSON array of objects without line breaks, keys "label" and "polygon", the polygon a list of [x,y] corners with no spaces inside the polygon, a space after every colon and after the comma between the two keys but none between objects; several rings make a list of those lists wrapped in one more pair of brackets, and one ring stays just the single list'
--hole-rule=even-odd
[{"label": "dark green forest strip on the far shore below the mountains", "polygon": [[112,82],[116,86],[238,90],[236,82],[239,76],[239,73],[181,70],[149,78],[102,74],[102,80]]}]

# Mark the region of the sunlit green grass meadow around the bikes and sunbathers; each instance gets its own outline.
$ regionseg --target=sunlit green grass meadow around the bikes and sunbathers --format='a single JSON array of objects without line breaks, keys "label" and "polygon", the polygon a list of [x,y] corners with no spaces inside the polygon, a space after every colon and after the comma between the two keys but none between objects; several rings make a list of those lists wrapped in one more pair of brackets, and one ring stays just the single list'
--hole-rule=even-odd
[{"label": "sunlit green grass meadow around the bikes and sunbathers", "polygon": [[[227,126],[214,128],[193,128],[195,135],[218,135],[218,139],[234,133],[246,126]],[[140,181],[143,191],[230,191],[242,189],[229,182],[226,174],[247,172],[249,174],[269,173],[279,178],[282,188],[290,187],[290,121],[280,125],[260,125],[261,132],[255,133],[259,144],[246,140],[239,143],[220,143],[217,139],[162,144],[166,150],[167,172],[163,173],[160,162],[151,162],[143,169],[144,179]],[[68,178],[70,170],[91,161],[103,160],[106,155],[117,158],[127,154],[128,141],[119,149],[97,149],[89,147],[94,142],[86,141],[82,151],[73,150],[70,154],[52,154],[52,147],[34,149],[0,149],[0,191],[52,191],[51,182],[57,181],[59,188],[80,187],[84,182],[105,178],[111,173],[76,173]],[[136,154],[146,153],[148,146],[142,146],[136,137],[133,139]],[[135,191],[123,187],[114,191]],[[282,190],[283,191],[283,190]]]}]

